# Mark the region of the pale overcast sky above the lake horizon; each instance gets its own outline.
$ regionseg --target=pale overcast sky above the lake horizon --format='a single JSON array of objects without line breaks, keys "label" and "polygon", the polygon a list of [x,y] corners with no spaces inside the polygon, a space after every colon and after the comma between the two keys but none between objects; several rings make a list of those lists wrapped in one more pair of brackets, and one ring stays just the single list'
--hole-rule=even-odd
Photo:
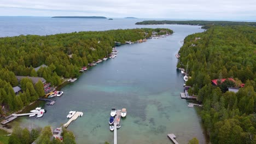
[{"label": "pale overcast sky above the lake horizon", "polygon": [[0,15],[256,21],[256,0],[0,0]]}]

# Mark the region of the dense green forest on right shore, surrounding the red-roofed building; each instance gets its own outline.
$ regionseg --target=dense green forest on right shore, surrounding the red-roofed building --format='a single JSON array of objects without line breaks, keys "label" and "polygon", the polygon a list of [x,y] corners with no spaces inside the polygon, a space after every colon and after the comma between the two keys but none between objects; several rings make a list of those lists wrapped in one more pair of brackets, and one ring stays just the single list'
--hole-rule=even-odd
[{"label": "dense green forest on right shore, surrounding the red-roofed building", "polygon": [[256,28],[213,26],[185,38],[179,54],[177,67],[188,62],[186,84],[203,104],[200,114],[211,143],[256,143]]}]

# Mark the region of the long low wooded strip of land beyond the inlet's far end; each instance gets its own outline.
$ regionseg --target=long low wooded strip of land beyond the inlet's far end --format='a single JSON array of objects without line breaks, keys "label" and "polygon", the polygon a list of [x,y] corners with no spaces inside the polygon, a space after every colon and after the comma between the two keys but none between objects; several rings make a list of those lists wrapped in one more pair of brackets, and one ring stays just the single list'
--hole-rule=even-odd
[{"label": "long low wooded strip of land beyond the inlet's far end", "polygon": [[202,28],[208,28],[212,25],[218,26],[235,26],[235,25],[249,25],[256,26],[256,22],[242,22],[242,21],[142,21],[136,22],[135,25],[197,25],[203,26]]}]

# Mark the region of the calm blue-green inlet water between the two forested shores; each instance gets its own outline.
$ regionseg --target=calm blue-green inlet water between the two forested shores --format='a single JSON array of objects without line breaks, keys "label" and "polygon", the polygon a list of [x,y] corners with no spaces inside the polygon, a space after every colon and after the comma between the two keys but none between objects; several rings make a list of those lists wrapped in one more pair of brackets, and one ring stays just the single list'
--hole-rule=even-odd
[{"label": "calm blue-green inlet water between the two forested shores", "polygon": [[179,40],[202,29],[178,25],[149,27],[171,28],[174,33],[167,38],[118,47],[117,58],[97,64],[62,88],[65,93],[54,98],[55,105],[44,107],[48,112],[43,118],[22,117],[18,122],[22,127],[56,128],[67,122],[69,111],[83,111],[84,116],[68,127],[77,142],[113,143],[108,125],[110,109],[125,107],[127,117],[121,120],[118,143],[171,143],[169,133],[175,134],[179,143],[188,143],[193,137],[205,143],[200,117],[179,96],[183,76],[176,70],[174,56],[182,45]]}]

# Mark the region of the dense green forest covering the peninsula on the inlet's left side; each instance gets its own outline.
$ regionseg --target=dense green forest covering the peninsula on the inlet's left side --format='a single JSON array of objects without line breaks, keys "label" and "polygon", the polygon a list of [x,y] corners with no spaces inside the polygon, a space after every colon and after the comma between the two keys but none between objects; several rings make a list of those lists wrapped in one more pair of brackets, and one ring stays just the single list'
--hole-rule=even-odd
[{"label": "dense green forest covering the peninsula on the inlet's left side", "polygon": [[[1,116],[20,110],[44,95],[42,82],[33,83],[28,78],[18,82],[15,76],[43,77],[51,86],[58,86],[62,77],[77,77],[83,66],[108,57],[114,41],[125,44],[126,40],[149,38],[153,31],[172,33],[170,29],[142,28],[0,38]],[[42,64],[48,67],[34,69]],[[18,85],[22,93],[15,95],[13,87]]]}]

